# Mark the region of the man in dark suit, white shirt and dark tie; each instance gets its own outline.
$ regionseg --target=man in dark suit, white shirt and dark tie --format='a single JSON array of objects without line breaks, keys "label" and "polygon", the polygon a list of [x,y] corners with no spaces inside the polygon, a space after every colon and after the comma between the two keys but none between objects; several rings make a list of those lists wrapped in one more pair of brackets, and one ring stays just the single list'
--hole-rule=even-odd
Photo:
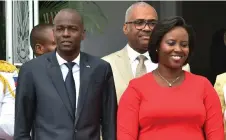
[{"label": "man in dark suit, white shirt and dark tie", "polygon": [[[57,49],[22,65],[14,140],[116,140],[117,100],[109,63],[80,52],[81,16],[61,10],[54,19]],[[34,138],[30,137],[34,128]]]}]

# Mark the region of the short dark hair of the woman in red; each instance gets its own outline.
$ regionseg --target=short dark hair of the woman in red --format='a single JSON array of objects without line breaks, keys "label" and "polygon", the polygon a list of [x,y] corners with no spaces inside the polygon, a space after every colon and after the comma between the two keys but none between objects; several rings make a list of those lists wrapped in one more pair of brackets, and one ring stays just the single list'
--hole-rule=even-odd
[{"label": "short dark hair of the woman in red", "polygon": [[164,35],[175,27],[183,27],[188,33],[189,55],[188,55],[188,59],[186,60],[184,65],[188,63],[188,60],[190,59],[194,46],[195,46],[195,33],[194,33],[192,27],[187,25],[185,23],[185,20],[182,17],[178,17],[178,16],[161,20],[154,27],[154,29],[151,33],[151,37],[150,37],[151,39],[150,39],[150,42],[148,45],[148,52],[149,52],[152,62],[158,63],[158,52],[157,51],[159,50],[160,43],[161,43]]}]

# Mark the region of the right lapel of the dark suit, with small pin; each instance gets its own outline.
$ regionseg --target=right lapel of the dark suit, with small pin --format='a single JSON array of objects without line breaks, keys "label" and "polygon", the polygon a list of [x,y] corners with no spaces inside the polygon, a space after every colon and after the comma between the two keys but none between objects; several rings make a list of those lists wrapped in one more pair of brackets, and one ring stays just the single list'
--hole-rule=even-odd
[{"label": "right lapel of the dark suit, with small pin", "polygon": [[80,89],[79,89],[79,98],[78,98],[78,105],[76,110],[76,117],[75,117],[75,125],[78,122],[80,114],[82,112],[82,108],[85,103],[85,99],[87,98],[87,89],[90,82],[90,74],[92,70],[92,66],[88,62],[88,56],[85,53],[80,53]]}]

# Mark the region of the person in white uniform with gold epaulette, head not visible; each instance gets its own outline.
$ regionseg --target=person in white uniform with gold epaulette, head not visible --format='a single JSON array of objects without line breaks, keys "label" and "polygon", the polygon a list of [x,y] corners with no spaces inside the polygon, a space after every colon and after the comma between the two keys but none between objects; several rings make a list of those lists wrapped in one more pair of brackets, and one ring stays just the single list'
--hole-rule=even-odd
[{"label": "person in white uniform with gold epaulette, head not visible", "polygon": [[0,60],[0,139],[12,140],[14,134],[17,68]]}]

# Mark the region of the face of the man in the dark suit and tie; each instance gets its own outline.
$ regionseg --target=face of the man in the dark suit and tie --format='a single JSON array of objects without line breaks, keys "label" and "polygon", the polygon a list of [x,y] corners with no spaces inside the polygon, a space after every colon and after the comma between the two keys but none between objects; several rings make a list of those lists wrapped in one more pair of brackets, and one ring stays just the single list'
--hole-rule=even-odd
[{"label": "face of the man in the dark suit and tie", "polygon": [[60,13],[53,31],[58,51],[70,54],[80,50],[84,28],[79,15],[66,11]]}]

